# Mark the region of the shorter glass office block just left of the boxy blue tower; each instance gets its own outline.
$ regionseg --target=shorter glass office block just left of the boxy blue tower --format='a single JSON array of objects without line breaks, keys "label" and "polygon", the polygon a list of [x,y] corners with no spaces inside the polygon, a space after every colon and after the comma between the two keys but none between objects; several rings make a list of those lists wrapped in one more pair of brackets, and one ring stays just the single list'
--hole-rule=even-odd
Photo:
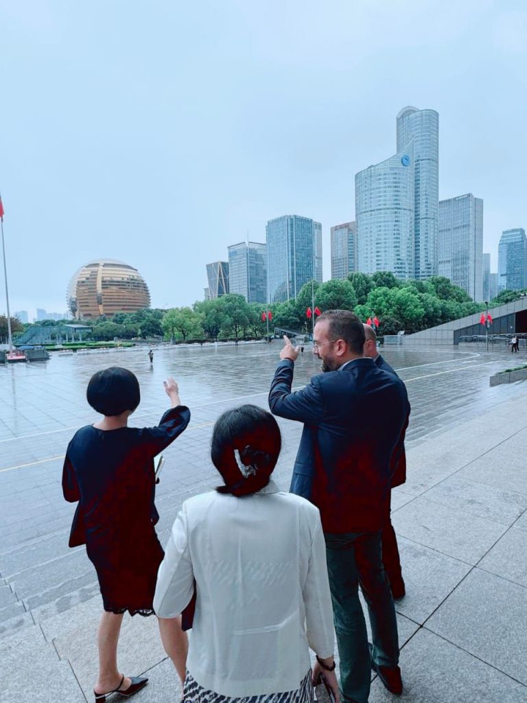
[{"label": "shorter glass office block just left of the boxy blue tower", "polygon": [[228,247],[229,292],[240,293],[248,303],[267,302],[266,245],[240,242]]}]

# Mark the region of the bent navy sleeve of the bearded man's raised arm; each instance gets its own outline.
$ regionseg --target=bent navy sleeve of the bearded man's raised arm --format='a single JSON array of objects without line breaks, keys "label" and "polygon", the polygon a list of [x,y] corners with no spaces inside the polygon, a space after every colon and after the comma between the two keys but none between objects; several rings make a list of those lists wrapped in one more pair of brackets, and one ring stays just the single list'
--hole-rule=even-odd
[{"label": "bent navy sleeve of the bearded man's raised arm", "polygon": [[312,378],[305,388],[292,392],[293,368],[294,364],[289,359],[284,359],[278,364],[269,392],[271,413],[279,418],[318,425],[325,415],[320,382]]}]

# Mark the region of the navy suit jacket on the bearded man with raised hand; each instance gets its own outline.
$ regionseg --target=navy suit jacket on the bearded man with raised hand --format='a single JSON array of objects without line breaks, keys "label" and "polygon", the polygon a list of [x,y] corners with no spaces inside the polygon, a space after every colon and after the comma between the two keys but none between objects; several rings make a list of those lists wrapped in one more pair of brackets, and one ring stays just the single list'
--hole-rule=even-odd
[{"label": "navy suit jacket on the bearded man with raised hand", "polygon": [[405,385],[361,358],[292,392],[293,368],[280,361],[269,393],[274,415],[304,423],[291,492],[317,505],[325,532],[381,529],[407,416]]}]

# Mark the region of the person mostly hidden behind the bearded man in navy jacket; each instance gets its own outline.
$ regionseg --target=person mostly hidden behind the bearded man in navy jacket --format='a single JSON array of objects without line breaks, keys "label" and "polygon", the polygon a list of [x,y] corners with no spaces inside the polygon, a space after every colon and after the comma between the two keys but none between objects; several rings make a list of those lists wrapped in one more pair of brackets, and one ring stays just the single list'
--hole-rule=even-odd
[{"label": "person mostly hidden behind the bearded man in navy jacket", "polygon": [[[384,359],[377,351],[377,335],[375,330],[370,325],[364,325],[366,341],[364,344],[364,356],[375,361],[375,364],[388,373],[393,373],[397,376],[396,370]],[[398,376],[397,376],[398,378]],[[392,457],[392,475],[391,488],[401,486],[406,482],[406,453],[405,453],[405,434],[410,420],[410,402],[406,413],[406,421],[399,437],[398,446]],[[391,491],[390,491],[391,493]],[[391,500],[386,504],[386,512],[382,523],[382,565],[391,586],[391,595],[394,600],[403,598],[405,595],[405,582],[403,581],[403,572],[401,569],[401,557],[397,546],[397,538],[393,525],[391,524]]]}]

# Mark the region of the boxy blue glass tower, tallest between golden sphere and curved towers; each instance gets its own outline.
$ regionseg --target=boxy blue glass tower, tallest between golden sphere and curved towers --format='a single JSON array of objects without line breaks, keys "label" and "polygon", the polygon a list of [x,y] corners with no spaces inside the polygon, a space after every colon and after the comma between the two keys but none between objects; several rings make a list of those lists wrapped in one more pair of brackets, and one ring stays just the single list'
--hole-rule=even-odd
[{"label": "boxy blue glass tower, tallest between golden sphere and curved towers", "polygon": [[322,225],[283,215],[266,226],[268,302],[296,298],[309,280],[322,283]]}]

